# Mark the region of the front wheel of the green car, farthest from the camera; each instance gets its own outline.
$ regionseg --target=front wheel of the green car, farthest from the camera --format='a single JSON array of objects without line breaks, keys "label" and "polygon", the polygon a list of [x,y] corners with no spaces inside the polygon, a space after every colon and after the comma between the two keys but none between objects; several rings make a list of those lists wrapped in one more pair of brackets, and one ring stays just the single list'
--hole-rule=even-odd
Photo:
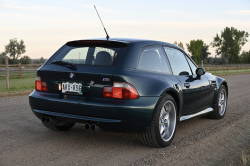
[{"label": "front wheel of the green car, farthest from the camera", "polygon": [[221,85],[217,96],[215,109],[212,113],[208,114],[208,117],[213,119],[222,119],[225,116],[226,109],[227,109],[227,89],[224,85]]}]

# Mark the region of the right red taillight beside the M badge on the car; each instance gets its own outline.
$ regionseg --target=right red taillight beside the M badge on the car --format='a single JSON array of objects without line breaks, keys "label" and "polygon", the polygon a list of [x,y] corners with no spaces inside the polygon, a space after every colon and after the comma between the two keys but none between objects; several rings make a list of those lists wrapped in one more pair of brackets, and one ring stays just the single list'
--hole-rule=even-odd
[{"label": "right red taillight beside the M badge on the car", "polygon": [[104,87],[103,98],[138,99],[139,95],[135,87],[126,82],[114,82],[112,87]]}]

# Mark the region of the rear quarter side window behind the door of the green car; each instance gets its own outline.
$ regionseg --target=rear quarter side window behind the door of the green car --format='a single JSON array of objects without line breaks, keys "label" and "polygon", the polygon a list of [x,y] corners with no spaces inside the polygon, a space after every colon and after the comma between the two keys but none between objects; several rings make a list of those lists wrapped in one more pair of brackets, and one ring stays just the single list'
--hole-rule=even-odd
[{"label": "rear quarter side window behind the door of the green car", "polygon": [[152,46],[142,50],[138,69],[172,74],[162,47]]}]

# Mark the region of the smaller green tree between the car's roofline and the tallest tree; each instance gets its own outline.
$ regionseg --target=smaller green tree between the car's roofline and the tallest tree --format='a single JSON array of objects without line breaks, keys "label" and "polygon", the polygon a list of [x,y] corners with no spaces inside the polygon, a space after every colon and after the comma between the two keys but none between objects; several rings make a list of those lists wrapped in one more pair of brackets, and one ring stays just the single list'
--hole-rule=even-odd
[{"label": "smaller green tree between the car's roofline and the tallest tree", "polygon": [[200,63],[201,60],[206,59],[208,55],[211,54],[210,52],[208,52],[209,46],[206,45],[206,43],[204,43],[201,39],[191,40],[186,45],[187,45],[188,51],[192,55],[191,56],[192,59],[196,63]]}]

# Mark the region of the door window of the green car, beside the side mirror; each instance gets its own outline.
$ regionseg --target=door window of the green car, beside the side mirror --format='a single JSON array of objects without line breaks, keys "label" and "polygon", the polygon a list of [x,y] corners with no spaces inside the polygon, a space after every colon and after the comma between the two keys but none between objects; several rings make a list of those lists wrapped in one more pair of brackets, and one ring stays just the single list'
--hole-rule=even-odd
[{"label": "door window of the green car, beside the side mirror", "polygon": [[174,75],[192,75],[185,55],[174,48],[164,47]]}]

